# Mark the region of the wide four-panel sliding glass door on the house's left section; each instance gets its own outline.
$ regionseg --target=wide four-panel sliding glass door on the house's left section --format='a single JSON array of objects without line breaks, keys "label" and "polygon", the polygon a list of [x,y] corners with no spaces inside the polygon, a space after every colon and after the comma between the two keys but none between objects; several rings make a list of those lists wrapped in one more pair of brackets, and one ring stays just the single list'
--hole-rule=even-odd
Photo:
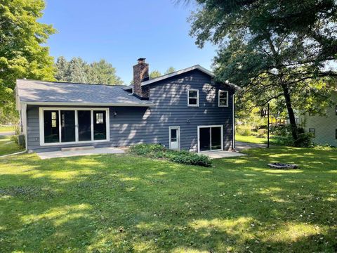
[{"label": "wide four-panel sliding glass door on the house's left section", "polygon": [[105,108],[40,108],[41,145],[109,141]]}]

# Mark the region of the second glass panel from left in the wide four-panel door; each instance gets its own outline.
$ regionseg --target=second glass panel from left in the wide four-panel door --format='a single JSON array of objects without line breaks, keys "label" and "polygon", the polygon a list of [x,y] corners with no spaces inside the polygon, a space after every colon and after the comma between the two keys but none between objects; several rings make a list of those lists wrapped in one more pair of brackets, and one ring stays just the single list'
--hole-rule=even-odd
[{"label": "second glass panel from left in the wide four-panel door", "polygon": [[75,111],[61,110],[61,142],[75,141]]}]

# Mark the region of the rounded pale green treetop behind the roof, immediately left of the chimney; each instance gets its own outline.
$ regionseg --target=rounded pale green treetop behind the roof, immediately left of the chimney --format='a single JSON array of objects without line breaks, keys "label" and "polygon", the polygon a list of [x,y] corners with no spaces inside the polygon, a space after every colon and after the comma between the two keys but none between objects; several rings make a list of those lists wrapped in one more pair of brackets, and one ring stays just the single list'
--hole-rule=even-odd
[{"label": "rounded pale green treetop behind the roof, immediately left of the chimney", "polygon": [[121,78],[116,75],[116,69],[106,60],[91,63],[88,67],[88,82],[93,84],[123,84]]}]

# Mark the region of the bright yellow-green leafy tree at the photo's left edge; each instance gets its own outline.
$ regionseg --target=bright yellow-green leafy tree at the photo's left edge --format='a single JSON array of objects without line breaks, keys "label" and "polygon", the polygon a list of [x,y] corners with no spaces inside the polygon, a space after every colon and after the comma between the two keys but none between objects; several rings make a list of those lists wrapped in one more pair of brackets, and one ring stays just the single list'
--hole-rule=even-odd
[{"label": "bright yellow-green leafy tree at the photo's left edge", "polygon": [[55,32],[42,17],[42,0],[4,0],[0,4],[0,108],[15,114],[13,90],[18,78],[53,80],[53,58],[41,44]]}]

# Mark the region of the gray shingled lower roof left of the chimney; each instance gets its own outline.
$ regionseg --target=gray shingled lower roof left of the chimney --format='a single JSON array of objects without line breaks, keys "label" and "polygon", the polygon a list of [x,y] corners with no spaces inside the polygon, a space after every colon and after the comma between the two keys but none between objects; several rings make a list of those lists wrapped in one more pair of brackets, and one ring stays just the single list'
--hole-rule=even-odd
[{"label": "gray shingled lower roof left of the chimney", "polygon": [[130,96],[124,86],[76,84],[17,79],[17,96],[21,103],[44,105],[123,105],[150,106],[149,100]]}]

